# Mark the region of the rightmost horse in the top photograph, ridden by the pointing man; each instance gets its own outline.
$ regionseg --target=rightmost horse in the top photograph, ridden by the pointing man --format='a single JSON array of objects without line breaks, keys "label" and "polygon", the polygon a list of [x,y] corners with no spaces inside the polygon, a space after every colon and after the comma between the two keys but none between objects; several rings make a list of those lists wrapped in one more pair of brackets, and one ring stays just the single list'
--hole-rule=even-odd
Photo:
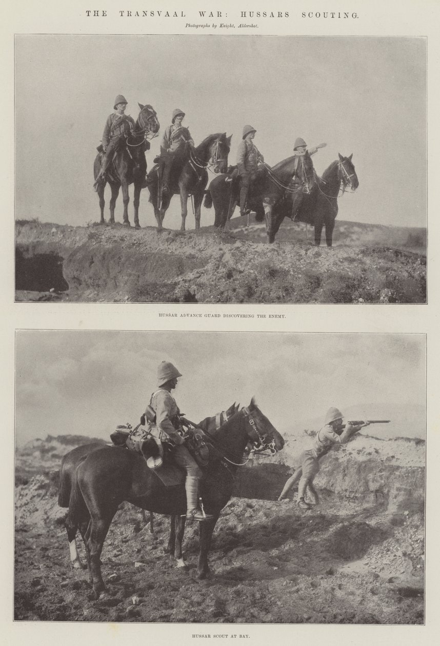
[{"label": "rightmost horse in the top photograph, ridden by the pointing man", "polygon": [[[330,166],[323,172],[322,177],[316,176],[316,183],[311,193],[304,195],[299,207],[297,220],[307,222],[315,227],[315,245],[319,246],[321,242],[322,227],[326,227],[326,243],[331,247],[333,242],[333,229],[335,219],[338,214],[338,196],[346,190],[355,191],[359,186],[359,180],[355,167],[351,162],[351,157],[342,157],[333,161]],[[267,209],[266,223],[269,221],[272,240],[275,240],[275,234],[282,220],[291,213],[291,200],[289,196],[280,202],[276,208]]]}]

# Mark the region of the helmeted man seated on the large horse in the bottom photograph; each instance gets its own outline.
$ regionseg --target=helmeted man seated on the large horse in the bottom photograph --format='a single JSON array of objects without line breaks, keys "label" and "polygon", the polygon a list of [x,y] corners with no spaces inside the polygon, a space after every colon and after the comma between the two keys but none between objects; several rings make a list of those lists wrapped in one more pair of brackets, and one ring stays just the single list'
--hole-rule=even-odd
[{"label": "helmeted man seated on the large horse in the bottom photograph", "polygon": [[[207,521],[213,516],[205,514],[198,506],[198,482],[202,470],[184,444],[182,424],[179,409],[171,395],[177,385],[178,377],[182,377],[172,363],[162,361],[158,366],[158,388],[152,393],[150,406],[156,413],[156,420],[148,422],[148,430],[154,437],[173,444],[173,459],[176,464],[185,469],[185,491],[187,498],[187,519]],[[148,411],[146,412],[148,418]]]}]

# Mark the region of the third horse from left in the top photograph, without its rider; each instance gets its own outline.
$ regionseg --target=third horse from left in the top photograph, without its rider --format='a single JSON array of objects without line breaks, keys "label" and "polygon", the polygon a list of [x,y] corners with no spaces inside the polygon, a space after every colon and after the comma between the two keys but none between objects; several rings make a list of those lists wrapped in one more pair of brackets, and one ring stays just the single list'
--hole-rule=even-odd
[{"label": "third horse from left in the top photograph, without its rider", "polygon": [[[295,179],[292,180],[295,167],[295,156],[282,160],[272,168],[267,164],[260,165],[256,178],[249,189],[247,198],[248,205],[256,211],[255,220],[262,222],[266,217],[266,231],[269,242],[273,242],[275,234],[272,235],[271,217],[272,211],[277,211],[284,202],[286,195],[293,193],[309,194],[315,178],[313,175],[313,163],[308,155],[304,157],[304,163],[300,163],[295,172]],[[227,175],[218,176],[209,185],[204,206],[209,209],[211,205],[215,208],[215,227],[224,229],[227,220],[231,218],[237,203],[240,201],[240,187],[236,180],[226,181]],[[269,213],[269,216],[267,216]],[[268,224],[269,223],[269,224]]]}]

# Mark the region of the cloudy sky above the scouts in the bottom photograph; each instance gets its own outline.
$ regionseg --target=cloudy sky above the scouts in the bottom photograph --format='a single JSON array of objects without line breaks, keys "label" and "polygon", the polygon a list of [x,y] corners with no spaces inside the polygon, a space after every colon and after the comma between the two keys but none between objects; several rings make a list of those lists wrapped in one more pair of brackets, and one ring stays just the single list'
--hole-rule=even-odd
[{"label": "cloudy sky above the scouts in the bottom photograph", "polygon": [[330,406],[356,415],[377,403],[388,415],[385,404],[425,405],[419,334],[21,330],[17,445],[48,434],[108,440],[118,424],[138,424],[162,360],[182,373],[173,395],[194,422],[253,395],[281,433],[302,432]]}]

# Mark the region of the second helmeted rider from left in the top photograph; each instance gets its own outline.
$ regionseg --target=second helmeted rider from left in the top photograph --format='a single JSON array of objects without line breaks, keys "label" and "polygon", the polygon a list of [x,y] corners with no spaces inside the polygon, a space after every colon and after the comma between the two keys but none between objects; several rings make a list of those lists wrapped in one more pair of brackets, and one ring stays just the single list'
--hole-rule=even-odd
[{"label": "second helmeted rider from left in the top photograph", "polygon": [[182,125],[185,112],[176,108],[173,110],[171,125],[165,128],[160,144],[159,180],[162,186],[162,195],[169,195],[171,189],[169,178],[173,166],[177,163],[183,165],[187,157],[187,146],[194,148],[194,141],[185,126]]}]

